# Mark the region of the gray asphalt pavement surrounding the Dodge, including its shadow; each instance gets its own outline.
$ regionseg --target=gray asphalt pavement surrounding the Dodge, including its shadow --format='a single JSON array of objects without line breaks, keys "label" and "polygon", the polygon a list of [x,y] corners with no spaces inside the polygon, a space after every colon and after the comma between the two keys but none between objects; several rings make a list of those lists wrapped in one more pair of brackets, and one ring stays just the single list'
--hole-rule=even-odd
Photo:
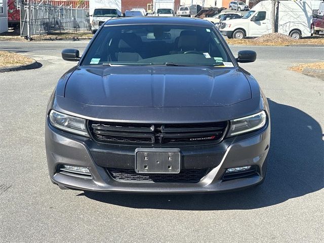
[{"label": "gray asphalt pavement surrounding the Dodge, including its shadow", "polygon": [[0,242],[324,242],[324,81],[289,70],[323,61],[323,47],[245,47],[241,64],[269,99],[265,182],[220,194],[159,195],[60,190],[48,176],[47,101],[87,42],[0,42],[42,67],[0,73]]}]

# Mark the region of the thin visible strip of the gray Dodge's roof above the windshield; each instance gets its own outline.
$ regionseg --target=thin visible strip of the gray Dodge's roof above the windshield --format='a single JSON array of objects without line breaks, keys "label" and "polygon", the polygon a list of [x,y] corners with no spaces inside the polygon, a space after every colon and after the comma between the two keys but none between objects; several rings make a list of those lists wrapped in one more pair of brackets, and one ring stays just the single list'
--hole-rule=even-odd
[{"label": "thin visible strip of the gray Dodge's roof above the windshield", "polygon": [[105,25],[127,25],[127,24],[179,24],[179,25],[195,25],[195,26],[214,26],[208,20],[198,18],[183,17],[137,17],[137,18],[112,18],[107,20]]}]

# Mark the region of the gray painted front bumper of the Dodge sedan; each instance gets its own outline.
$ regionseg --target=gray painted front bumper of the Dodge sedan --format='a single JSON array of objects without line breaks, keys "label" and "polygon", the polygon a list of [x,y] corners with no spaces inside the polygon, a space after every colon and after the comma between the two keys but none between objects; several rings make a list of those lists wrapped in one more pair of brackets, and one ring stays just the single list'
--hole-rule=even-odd
[{"label": "gray painted front bumper of the Dodge sedan", "polygon": [[[135,148],[98,146],[91,139],[65,135],[47,123],[46,152],[52,182],[61,188],[104,192],[221,192],[253,186],[264,179],[270,143],[270,127],[267,126],[253,136],[225,139],[216,145],[180,148],[182,168],[210,168],[197,183],[122,182],[113,179],[106,167],[134,168]],[[58,171],[62,164],[87,167],[92,178],[62,174]],[[247,178],[222,180],[227,168],[247,165],[257,167],[258,173]]]}]

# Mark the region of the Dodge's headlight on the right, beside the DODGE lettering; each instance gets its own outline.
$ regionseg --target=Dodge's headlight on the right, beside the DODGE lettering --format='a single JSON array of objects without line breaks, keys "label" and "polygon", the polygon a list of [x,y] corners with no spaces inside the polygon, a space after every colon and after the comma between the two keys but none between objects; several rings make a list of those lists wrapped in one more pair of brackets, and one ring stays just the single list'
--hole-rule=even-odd
[{"label": "Dodge's headlight on the right, beside the DODGE lettering", "polygon": [[228,137],[249,133],[260,128],[263,128],[267,121],[267,115],[265,111],[261,111],[254,115],[230,120],[230,128],[228,131]]}]

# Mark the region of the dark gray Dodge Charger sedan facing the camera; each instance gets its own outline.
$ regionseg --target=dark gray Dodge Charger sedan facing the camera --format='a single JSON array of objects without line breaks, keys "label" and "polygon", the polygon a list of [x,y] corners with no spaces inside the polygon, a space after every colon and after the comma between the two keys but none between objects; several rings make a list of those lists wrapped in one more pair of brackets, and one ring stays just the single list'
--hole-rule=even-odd
[{"label": "dark gray Dodge Charger sedan facing the camera", "polygon": [[267,99],[209,21],[105,22],[58,81],[46,113],[51,181],[62,189],[193,193],[264,181]]}]

